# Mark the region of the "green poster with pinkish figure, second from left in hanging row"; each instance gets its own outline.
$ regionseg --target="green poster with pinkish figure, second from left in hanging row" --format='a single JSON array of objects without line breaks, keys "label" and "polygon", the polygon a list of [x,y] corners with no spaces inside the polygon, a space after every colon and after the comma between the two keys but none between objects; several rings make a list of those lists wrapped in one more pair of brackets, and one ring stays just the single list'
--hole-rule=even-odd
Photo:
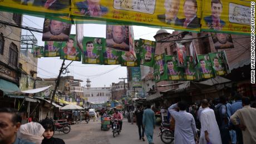
[{"label": "green poster with pinkish figure, second from left in hanging row", "polygon": [[67,42],[62,43],[61,59],[81,61],[81,50],[76,42],[76,36],[72,34]]}]

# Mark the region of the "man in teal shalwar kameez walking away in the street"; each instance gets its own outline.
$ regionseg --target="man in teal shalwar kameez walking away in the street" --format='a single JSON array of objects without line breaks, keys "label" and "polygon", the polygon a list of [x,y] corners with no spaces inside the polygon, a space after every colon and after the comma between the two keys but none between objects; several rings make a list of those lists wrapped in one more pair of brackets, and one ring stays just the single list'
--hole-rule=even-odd
[{"label": "man in teal shalwar kameez walking away in the street", "polygon": [[152,111],[150,107],[151,107],[150,105],[147,105],[147,109],[144,110],[142,123],[143,123],[143,127],[145,128],[147,141],[149,142],[149,144],[154,144],[153,133],[155,129],[156,118],[155,118],[154,111]]}]

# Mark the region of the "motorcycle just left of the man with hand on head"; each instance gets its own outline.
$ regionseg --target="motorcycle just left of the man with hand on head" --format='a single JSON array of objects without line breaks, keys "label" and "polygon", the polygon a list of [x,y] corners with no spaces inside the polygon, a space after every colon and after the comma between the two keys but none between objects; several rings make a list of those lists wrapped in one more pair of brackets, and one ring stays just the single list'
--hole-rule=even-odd
[{"label": "motorcycle just left of the man with hand on head", "polygon": [[166,144],[169,144],[174,141],[174,131],[170,130],[169,123],[161,123],[159,136],[161,137],[161,141]]}]

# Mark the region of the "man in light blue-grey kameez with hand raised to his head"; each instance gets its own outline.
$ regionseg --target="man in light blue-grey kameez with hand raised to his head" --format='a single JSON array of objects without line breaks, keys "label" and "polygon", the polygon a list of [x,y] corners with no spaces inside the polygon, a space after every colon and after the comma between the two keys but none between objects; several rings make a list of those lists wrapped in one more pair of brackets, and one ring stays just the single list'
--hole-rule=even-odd
[{"label": "man in light blue-grey kameez with hand raised to his head", "polygon": [[[175,109],[179,109],[179,112],[176,112]],[[186,103],[183,101],[175,103],[168,108],[168,111],[175,120],[175,144],[195,144],[195,139],[197,140],[194,117],[185,110]]]}]

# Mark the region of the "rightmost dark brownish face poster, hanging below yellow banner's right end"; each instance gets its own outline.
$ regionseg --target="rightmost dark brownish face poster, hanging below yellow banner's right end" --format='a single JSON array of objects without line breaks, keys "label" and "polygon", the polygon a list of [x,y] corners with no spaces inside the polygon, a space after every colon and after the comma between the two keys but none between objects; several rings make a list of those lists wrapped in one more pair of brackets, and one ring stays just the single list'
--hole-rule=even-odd
[{"label": "rightmost dark brownish face poster, hanging below yellow banner's right end", "polygon": [[215,49],[234,48],[231,34],[211,32]]}]

